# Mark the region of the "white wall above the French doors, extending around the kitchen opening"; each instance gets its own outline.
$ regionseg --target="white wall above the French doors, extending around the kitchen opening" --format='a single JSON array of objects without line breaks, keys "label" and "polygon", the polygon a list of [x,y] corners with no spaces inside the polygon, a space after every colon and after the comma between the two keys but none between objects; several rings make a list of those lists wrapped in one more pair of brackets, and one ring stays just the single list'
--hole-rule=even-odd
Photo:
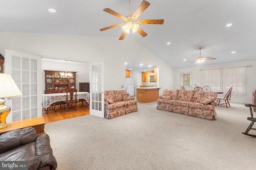
[{"label": "white wall above the French doors, extending around the kitchen opening", "polygon": [[[82,63],[104,61],[104,90],[126,88],[124,64],[126,60],[157,65],[159,86],[162,87],[160,92],[165,88],[173,88],[173,68],[134,39],[120,41],[118,37],[12,32],[0,32],[0,39],[2,54],[4,49],[9,49],[50,59]],[[144,41],[147,41],[146,37]]]}]

